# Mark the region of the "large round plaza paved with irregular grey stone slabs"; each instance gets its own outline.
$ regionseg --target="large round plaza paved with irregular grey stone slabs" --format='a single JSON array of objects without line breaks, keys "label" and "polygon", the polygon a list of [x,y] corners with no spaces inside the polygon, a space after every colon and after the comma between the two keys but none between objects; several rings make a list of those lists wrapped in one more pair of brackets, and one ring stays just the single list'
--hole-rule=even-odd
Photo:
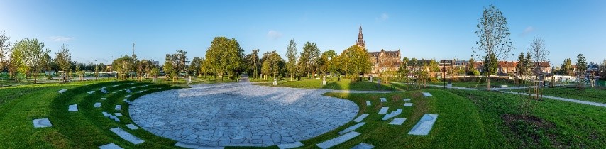
[{"label": "large round plaza paved with irregular grey stone slabs", "polygon": [[353,101],[321,95],[326,92],[202,84],[146,94],[132,102],[129,113],[146,131],[184,145],[265,147],[314,138],[358,114]]}]

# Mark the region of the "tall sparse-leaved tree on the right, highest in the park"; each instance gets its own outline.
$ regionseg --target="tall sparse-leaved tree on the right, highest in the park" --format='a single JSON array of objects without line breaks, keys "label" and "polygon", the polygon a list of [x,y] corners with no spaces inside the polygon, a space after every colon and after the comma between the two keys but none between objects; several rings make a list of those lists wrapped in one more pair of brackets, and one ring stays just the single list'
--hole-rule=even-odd
[{"label": "tall sparse-leaved tree on the right, highest in the park", "polygon": [[[497,9],[496,6],[490,5],[483,8],[482,17],[478,18],[478,30],[475,35],[478,35],[480,40],[475,44],[477,47],[472,48],[475,57],[484,57],[485,60],[495,59],[498,61],[505,60],[509,57],[509,52],[515,49],[512,41],[509,39],[509,27],[507,27],[507,18]],[[487,69],[491,71],[491,69]],[[486,72],[487,89],[490,90],[490,74],[494,72]]]}]

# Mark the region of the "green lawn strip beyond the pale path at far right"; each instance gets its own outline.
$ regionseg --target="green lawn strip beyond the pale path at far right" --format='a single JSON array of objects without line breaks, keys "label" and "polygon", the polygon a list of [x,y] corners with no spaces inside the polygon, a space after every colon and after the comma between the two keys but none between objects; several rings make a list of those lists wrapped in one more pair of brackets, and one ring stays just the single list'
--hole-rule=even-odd
[{"label": "green lawn strip beyond the pale path at far right", "polygon": [[[512,89],[512,92],[528,92],[527,89]],[[543,94],[547,96],[557,96],[568,99],[578,99],[584,101],[593,101],[606,103],[606,89],[597,87],[585,87],[578,90],[575,87],[544,87]]]}]

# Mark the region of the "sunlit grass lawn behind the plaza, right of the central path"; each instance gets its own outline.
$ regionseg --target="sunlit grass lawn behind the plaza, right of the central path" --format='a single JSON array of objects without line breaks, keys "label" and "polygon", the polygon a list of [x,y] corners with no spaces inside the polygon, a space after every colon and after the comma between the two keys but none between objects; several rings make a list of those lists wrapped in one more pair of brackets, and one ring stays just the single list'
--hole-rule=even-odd
[{"label": "sunlit grass lawn behind the plaza, right of the central path", "polygon": [[[302,79],[301,81],[280,81],[277,83],[277,87],[292,87],[292,88],[304,88],[304,89],[336,89],[336,90],[360,90],[360,91],[401,91],[406,90],[407,85],[400,83],[383,83],[379,88],[376,82],[352,82],[351,79],[341,79],[337,81],[336,78],[333,78],[331,82],[330,79],[326,79],[326,86],[320,85],[322,84],[321,79]],[[258,83],[258,85],[270,85],[269,82]]]}]

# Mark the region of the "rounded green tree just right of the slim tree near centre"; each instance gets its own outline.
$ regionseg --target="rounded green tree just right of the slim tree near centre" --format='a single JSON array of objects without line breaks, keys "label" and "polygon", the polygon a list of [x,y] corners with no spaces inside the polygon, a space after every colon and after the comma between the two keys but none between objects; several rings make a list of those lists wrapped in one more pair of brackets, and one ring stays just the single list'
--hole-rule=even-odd
[{"label": "rounded green tree just right of the slim tree near centre", "polygon": [[305,43],[301,57],[299,57],[299,67],[301,72],[305,72],[307,77],[312,77],[309,74],[315,75],[317,68],[317,58],[320,56],[320,49],[316,43]]}]

